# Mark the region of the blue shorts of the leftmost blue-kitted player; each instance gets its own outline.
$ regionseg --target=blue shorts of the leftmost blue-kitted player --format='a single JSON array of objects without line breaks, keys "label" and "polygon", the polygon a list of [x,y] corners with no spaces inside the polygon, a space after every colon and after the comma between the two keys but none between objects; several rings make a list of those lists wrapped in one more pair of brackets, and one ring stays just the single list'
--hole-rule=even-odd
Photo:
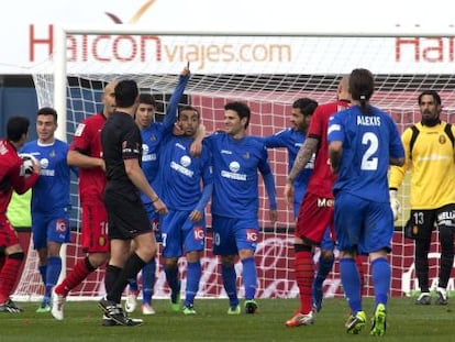
[{"label": "blue shorts of the leftmost blue-kitted player", "polygon": [[52,214],[32,213],[33,246],[35,250],[47,247],[47,242],[65,243],[70,241],[69,216],[66,210]]}]

